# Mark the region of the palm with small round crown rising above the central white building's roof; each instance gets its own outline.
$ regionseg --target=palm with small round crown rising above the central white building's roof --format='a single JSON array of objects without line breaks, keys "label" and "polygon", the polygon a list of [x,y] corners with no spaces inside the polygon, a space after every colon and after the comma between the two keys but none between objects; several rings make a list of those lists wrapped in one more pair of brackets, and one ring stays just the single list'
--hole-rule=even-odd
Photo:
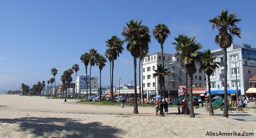
[{"label": "palm with small round crown rising above the central white building's roof", "polygon": [[[159,23],[158,25],[155,26],[155,28],[152,30],[152,32],[153,32],[154,38],[161,45],[162,64],[164,65],[163,44],[164,44],[165,40],[168,38],[168,35],[171,34],[170,29],[165,24]],[[164,76],[163,76],[163,79],[164,79]],[[165,98],[165,83],[163,83],[163,96]],[[162,95],[161,95],[161,97],[162,97]]]}]

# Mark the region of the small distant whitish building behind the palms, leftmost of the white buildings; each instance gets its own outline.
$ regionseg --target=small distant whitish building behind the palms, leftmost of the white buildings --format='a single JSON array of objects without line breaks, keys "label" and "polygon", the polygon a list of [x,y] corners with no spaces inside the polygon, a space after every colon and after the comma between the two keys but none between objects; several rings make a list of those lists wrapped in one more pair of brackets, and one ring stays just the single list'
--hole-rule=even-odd
[{"label": "small distant whitish building behind the palms, leftmost of the white buildings", "polygon": [[[86,85],[87,79],[87,85]],[[90,77],[90,75],[80,75],[76,77],[76,86],[78,94],[88,94],[90,93],[90,83],[91,83],[91,90],[92,95],[99,95],[99,81],[98,77]]]}]

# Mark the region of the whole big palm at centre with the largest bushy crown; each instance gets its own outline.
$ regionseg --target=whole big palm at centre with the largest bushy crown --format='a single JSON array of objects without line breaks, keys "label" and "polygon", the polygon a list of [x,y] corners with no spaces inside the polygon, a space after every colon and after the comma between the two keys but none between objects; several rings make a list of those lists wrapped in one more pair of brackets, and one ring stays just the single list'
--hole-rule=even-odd
[{"label": "whole big palm at centre with the largest bushy crown", "polygon": [[126,22],[127,27],[123,28],[122,35],[125,37],[125,41],[128,42],[126,49],[131,53],[134,60],[134,95],[135,95],[135,104],[133,113],[139,113],[138,104],[137,104],[137,77],[136,77],[136,67],[137,61],[136,59],[140,57],[141,50],[144,50],[148,47],[150,43],[150,31],[148,26],[141,25],[141,22],[138,20],[131,19]]}]

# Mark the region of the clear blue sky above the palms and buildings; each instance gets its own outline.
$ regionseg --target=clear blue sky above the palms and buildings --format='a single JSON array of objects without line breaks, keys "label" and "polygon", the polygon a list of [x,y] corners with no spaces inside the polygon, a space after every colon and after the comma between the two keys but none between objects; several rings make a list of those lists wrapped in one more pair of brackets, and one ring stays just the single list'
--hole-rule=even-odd
[{"label": "clear blue sky above the palms and buildings", "polygon": [[[58,69],[56,85],[63,71],[75,63],[85,75],[80,56],[94,48],[103,55],[105,41],[113,35],[124,39],[121,32],[126,22],[138,19],[152,30],[158,23],[170,28],[164,52],[174,54],[174,37],[185,34],[196,37],[203,49],[219,49],[209,19],[229,8],[243,21],[238,24],[242,38],[235,44],[251,44],[256,48],[255,0],[0,0],[0,92],[17,90],[21,83],[32,87],[47,82],[51,69]],[[151,36],[152,33],[151,33]],[[133,57],[126,50],[115,60],[114,85],[131,84]],[[151,37],[149,54],[161,51]],[[108,87],[109,63],[102,70],[102,86]],[[99,76],[97,66],[92,76]],[[73,75],[73,80],[75,73]],[[73,81],[74,83],[75,81]]]}]

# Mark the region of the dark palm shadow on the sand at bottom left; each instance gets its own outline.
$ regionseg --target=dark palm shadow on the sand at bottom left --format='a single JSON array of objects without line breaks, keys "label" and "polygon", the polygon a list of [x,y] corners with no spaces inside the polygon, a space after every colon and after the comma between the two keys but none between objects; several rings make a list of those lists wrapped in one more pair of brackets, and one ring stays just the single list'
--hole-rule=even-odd
[{"label": "dark palm shadow on the sand at bottom left", "polygon": [[17,118],[0,119],[0,123],[19,124],[15,128],[17,132],[26,132],[34,134],[34,137],[75,137],[75,138],[118,138],[114,134],[124,131],[113,128],[110,125],[102,125],[101,122],[81,123],[77,119],[68,118]]}]

